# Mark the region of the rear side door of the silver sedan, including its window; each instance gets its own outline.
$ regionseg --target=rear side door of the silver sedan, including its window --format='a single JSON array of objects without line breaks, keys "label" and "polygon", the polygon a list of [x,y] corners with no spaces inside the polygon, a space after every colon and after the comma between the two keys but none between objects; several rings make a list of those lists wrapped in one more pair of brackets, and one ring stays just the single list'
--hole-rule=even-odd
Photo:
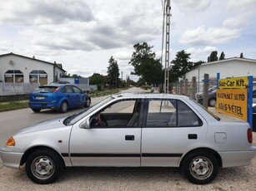
[{"label": "rear side door of the silver sedan, including its window", "polygon": [[184,153],[203,143],[207,127],[183,100],[148,100],[142,166],[178,166]]}]

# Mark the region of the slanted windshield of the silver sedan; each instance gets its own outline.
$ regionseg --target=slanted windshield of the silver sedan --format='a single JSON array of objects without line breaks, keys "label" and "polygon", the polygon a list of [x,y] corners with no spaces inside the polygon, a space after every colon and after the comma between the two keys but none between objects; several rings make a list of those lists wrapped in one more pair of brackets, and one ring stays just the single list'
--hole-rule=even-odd
[{"label": "slanted windshield of the silver sedan", "polygon": [[[89,113],[93,112],[93,110],[97,110],[99,107],[101,107],[102,105],[108,103],[108,101],[113,100],[113,97],[110,96],[108,98],[106,98],[105,100],[102,100],[100,102],[98,102],[98,104],[93,105],[93,107],[90,107],[88,110],[84,110],[78,114],[74,114],[69,116],[66,120],[68,120],[65,125],[73,125],[76,122],[78,122],[78,120],[81,120],[83,117],[85,117],[86,115],[88,115]],[[66,121],[65,120],[65,121]]]}]

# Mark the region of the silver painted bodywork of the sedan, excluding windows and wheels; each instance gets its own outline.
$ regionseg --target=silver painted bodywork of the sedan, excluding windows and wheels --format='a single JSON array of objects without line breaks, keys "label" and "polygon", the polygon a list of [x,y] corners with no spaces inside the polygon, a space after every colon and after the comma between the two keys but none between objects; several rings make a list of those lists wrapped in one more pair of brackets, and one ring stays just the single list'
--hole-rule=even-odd
[{"label": "silver painted bodywork of the sedan, excluding windows and wheels", "polygon": [[[136,98],[182,100],[203,125],[81,128],[84,121],[113,101]],[[17,168],[21,155],[38,146],[56,150],[66,166],[179,166],[189,151],[204,148],[216,151],[223,167],[230,167],[247,165],[256,154],[256,148],[248,143],[248,123],[218,121],[186,96],[123,94],[76,116],[70,125],[63,125],[64,119],[48,120],[14,135],[15,147],[4,146],[0,150],[3,165]],[[189,140],[189,134],[197,135],[197,139]],[[127,135],[133,135],[134,140],[126,140]]]}]

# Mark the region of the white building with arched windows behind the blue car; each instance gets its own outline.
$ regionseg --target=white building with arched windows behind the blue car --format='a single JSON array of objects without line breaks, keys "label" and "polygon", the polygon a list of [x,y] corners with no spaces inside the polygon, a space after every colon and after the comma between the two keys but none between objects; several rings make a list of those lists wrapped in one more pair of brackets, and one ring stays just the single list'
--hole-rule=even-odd
[{"label": "white building with arched windows behind the blue car", "polygon": [[14,54],[0,55],[0,82],[48,84],[58,81],[66,71],[56,62]]}]

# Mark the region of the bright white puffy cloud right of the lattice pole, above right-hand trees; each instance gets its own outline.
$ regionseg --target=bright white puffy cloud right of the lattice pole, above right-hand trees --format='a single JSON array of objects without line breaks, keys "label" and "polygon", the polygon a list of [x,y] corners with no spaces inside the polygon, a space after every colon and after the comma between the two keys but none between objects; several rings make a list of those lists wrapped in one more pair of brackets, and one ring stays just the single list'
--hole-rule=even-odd
[{"label": "bright white puffy cloud right of the lattice pole, above right-hand trees", "polygon": [[180,42],[188,45],[211,45],[232,42],[239,37],[239,31],[224,27],[197,27],[183,32]]}]

